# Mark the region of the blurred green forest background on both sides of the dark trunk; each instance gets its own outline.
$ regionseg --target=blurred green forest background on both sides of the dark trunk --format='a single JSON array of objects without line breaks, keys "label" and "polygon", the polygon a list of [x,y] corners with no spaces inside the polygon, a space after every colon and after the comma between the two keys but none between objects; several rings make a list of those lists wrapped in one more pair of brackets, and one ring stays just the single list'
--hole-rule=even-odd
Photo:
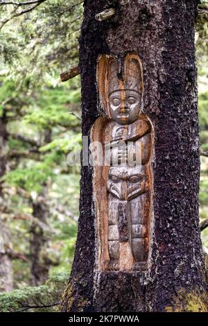
[{"label": "blurred green forest background on both sides of the dark trunk", "polygon": [[[0,0],[0,311],[56,311],[73,261],[83,1]],[[208,224],[208,3],[196,20],[201,228]],[[201,232],[208,252],[208,228]]]}]

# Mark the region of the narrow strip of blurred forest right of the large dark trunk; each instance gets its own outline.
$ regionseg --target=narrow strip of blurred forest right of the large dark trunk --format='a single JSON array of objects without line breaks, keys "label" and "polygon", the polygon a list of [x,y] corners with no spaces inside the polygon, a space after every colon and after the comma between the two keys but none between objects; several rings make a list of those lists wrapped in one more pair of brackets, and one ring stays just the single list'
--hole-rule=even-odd
[{"label": "narrow strip of blurred forest right of the large dark trunk", "polygon": [[[208,219],[207,219],[207,186],[208,186],[208,69],[207,69],[207,12],[208,1],[202,1],[198,7],[198,17],[196,20],[196,54],[198,59],[198,85],[199,85],[199,119],[200,119],[200,153],[201,153],[201,173],[200,173],[200,229],[202,231],[202,243],[207,252],[208,245]],[[208,252],[207,252],[208,253]]]}]

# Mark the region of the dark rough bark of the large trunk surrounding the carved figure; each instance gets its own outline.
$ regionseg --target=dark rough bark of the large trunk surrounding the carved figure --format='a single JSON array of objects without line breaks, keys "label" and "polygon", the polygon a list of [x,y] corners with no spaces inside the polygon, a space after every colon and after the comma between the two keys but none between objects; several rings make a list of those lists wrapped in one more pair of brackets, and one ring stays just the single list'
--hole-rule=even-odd
[{"label": "dark rough bark of the large trunk surrounding the carved figure", "polygon": [[[153,234],[148,271],[96,271],[93,169],[83,166],[76,253],[60,311],[206,311],[198,217],[197,1],[86,0],[84,5],[83,135],[89,136],[99,116],[98,55],[134,51],[143,65],[144,113],[155,130]],[[112,6],[114,17],[95,19]]]}]

